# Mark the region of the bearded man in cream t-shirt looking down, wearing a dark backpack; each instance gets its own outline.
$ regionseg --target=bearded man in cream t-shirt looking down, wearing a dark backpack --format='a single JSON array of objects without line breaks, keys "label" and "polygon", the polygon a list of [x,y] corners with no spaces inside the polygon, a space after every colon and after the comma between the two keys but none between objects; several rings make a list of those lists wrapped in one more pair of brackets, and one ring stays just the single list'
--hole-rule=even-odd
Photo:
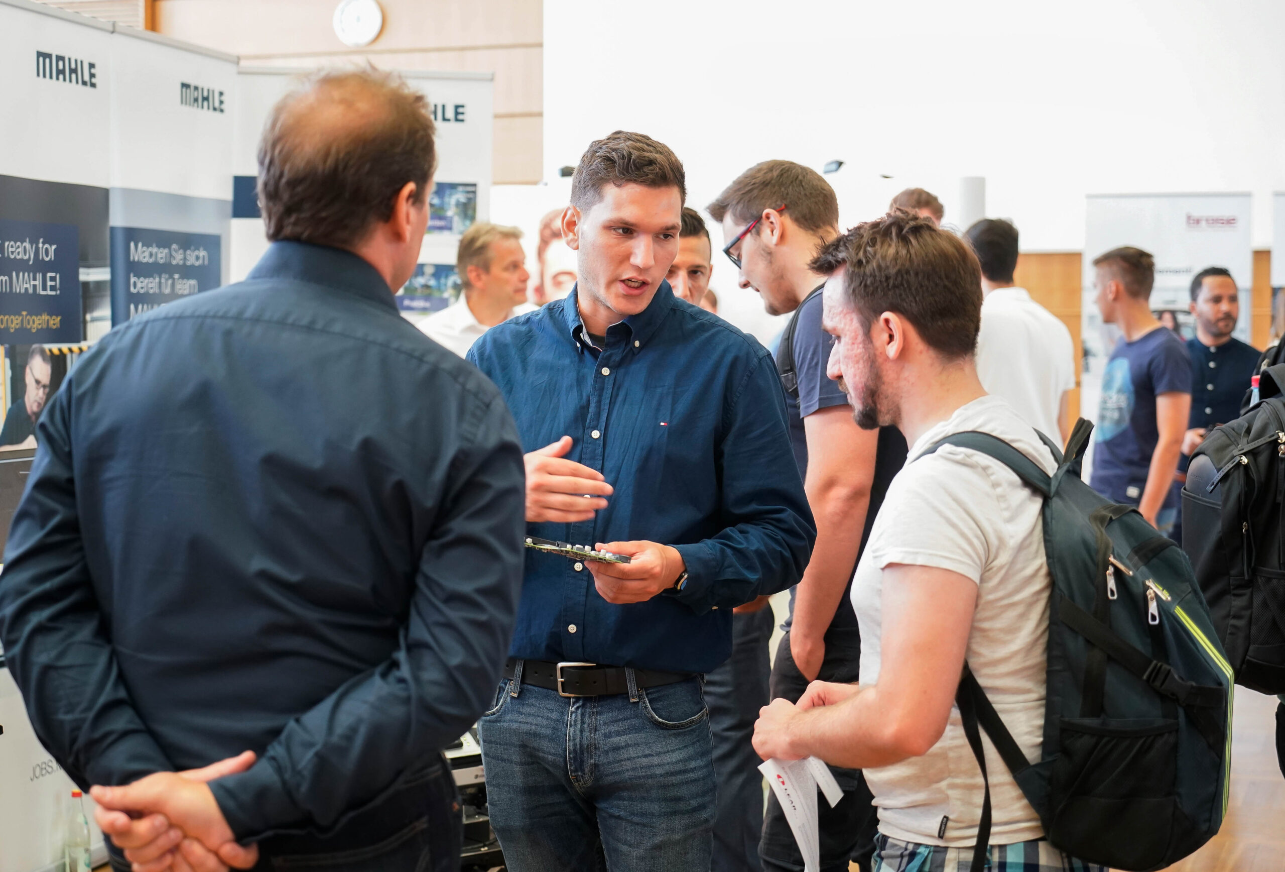
[{"label": "bearded man in cream t-shirt looking down, wearing a dark backpack", "polygon": [[[1043,499],[1004,463],[942,439],[980,431],[1052,475],[1060,458],[977,377],[977,257],[930,221],[889,215],[821,250],[831,378],[864,428],[911,445],[852,585],[860,684],[813,682],[762,710],[763,758],[816,755],[864,769],[879,806],[874,868],[968,868],[984,828],[983,773],[953,709],[965,660],[1022,754],[1041,754],[1052,577]],[[923,457],[921,457],[923,455]],[[989,860],[1005,869],[1101,869],[1045,840],[1041,819],[987,749]]]}]

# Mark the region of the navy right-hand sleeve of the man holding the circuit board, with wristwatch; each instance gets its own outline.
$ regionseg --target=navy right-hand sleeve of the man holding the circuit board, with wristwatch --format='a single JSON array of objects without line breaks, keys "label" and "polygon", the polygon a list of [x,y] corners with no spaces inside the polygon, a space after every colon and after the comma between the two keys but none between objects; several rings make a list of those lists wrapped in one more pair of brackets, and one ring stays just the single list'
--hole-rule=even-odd
[{"label": "navy right-hand sleeve of the man holding the circuit board, with wristwatch", "polygon": [[687,583],[667,593],[696,613],[797,584],[816,540],[785,426],[785,394],[768,361],[762,351],[726,412],[718,454],[726,529],[704,541],[675,545]]}]

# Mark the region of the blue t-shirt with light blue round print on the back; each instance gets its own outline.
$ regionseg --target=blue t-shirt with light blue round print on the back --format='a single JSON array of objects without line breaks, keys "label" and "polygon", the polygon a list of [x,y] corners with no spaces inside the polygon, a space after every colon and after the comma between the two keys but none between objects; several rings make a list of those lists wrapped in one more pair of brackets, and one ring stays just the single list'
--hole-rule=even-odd
[{"label": "blue t-shirt with light blue round print on the back", "polygon": [[[1172,392],[1191,392],[1191,355],[1182,340],[1163,327],[1132,342],[1121,340],[1103,372],[1094,490],[1118,503],[1136,505],[1142,499],[1160,440],[1155,397]],[[1164,508],[1177,502],[1177,490],[1171,489]]]}]

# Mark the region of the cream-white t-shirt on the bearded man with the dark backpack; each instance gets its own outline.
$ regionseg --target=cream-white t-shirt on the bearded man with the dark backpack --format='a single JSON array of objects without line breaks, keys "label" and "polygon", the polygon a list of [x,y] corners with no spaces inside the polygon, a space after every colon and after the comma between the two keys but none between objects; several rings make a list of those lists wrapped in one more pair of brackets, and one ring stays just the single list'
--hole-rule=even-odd
[{"label": "cream-white t-shirt on the bearded man with the dark backpack", "polygon": [[[978,451],[944,445],[915,459],[944,436],[973,430],[998,436],[1046,472],[1055,469],[1040,436],[997,396],[961,406],[911,446],[906,467],[888,487],[852,583],[852,606],[861,624],[861,684],[879,680],[883,568],[905,563],[959,572],[979,584],[969,666],[1027,759],[1038,760],[1052,585],[1045,562],[1042,500],[1006,466]],[[989,740],[982,741],[991,774],[991,844],[1042,839],[1038,815]],[[951,709],[946,733],[928,754],[865,774],[884,835],[951,848],[977,842],[982,770],[957,707]]]}]

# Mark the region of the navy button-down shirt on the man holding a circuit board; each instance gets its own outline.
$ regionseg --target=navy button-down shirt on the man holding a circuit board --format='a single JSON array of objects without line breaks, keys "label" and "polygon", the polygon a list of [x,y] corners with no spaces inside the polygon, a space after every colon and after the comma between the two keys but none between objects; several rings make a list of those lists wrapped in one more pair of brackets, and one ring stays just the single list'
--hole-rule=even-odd
[{"label": "navy button-down shirt on the man holding a circuit board", "polygon": [[582,523],[528,535],[673,545],[681,592],[612,604],[589,568],[528,552],[511,655],[709,671],[731,652],[731,610],[803,574],[816,530],[768,352],[662,282],[640,314],[587,341],[577,295],[491,328],[469,350],[504,394],[532,451],[569,435],[567,457],[613,486]]}]

